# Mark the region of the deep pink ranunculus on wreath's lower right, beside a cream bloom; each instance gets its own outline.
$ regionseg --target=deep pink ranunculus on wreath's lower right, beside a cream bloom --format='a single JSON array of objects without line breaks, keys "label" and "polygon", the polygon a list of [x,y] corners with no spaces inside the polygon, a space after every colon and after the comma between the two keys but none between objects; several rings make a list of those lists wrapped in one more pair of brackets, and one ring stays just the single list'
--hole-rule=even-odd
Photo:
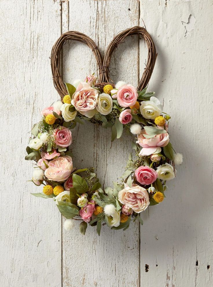
[{"label": "deep pink ranunculus on wreath's lower right, beside a cream bloom", "polygon": [[141,166],[135,170],[135,177],[140,184],[148,185],[157,179],[157,171],[151,167]]}]

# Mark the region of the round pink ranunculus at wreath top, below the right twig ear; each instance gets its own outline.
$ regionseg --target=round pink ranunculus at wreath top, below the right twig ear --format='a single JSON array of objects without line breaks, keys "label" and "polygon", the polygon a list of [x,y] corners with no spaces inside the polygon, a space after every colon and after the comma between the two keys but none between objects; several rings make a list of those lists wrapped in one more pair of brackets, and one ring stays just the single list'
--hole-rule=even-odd
[{"label": "round pink ranunculus at wreath top, below the right twig ear", "polygon": [[137,102],[137,89],[132,85],[123,85],[117,90],[117,101],[121,107],[130,107]]}]

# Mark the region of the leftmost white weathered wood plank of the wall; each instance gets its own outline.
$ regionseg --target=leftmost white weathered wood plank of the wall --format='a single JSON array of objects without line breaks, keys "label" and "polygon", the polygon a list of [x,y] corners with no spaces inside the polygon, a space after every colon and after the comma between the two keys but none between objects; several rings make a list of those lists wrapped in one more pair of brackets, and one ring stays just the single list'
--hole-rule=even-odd
[{"label": "leftmost white weathered wood plank of the wall", "polygon": [[[61,286],[61,220],[52,200],[30,192],[24,160],[39,109],[58,95],[50,52],[60,35],[60,1],[1,1],[1,286]],[[2,141],[3,140],[3,141]]]}]

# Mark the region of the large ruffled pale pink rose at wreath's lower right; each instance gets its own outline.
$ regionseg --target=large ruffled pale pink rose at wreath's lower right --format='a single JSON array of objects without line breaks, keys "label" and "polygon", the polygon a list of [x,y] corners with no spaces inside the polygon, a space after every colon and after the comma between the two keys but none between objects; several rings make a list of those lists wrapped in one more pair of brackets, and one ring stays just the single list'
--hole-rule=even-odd
[{"label": "large ruffled pale pink rose at wreath's lower right", "polygon": [[137,184],[132,184],[132,187],[125,184],[124,189],[118,193],[118,200],[120,203],[128,205],[137,213],[144,211],[149,205],[148,192]]}]

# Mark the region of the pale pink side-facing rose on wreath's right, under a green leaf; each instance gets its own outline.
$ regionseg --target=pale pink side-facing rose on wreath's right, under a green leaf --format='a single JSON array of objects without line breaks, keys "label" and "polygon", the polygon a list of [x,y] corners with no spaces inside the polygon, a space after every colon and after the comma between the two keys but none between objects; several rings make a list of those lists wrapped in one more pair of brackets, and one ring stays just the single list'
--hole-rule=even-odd
[{"label": "pale pink side-facing rose on wreath's right, under a green leaf", "polygon": [[169,134],[158,134],[153,136],[153,138],[145,138],[145,129],[137,137],[136,143],[138,143],[142,148],[140,151],[140,156],[149,156],[152,153],[161,152],[161,147],[165,147],[169,142]]}]

